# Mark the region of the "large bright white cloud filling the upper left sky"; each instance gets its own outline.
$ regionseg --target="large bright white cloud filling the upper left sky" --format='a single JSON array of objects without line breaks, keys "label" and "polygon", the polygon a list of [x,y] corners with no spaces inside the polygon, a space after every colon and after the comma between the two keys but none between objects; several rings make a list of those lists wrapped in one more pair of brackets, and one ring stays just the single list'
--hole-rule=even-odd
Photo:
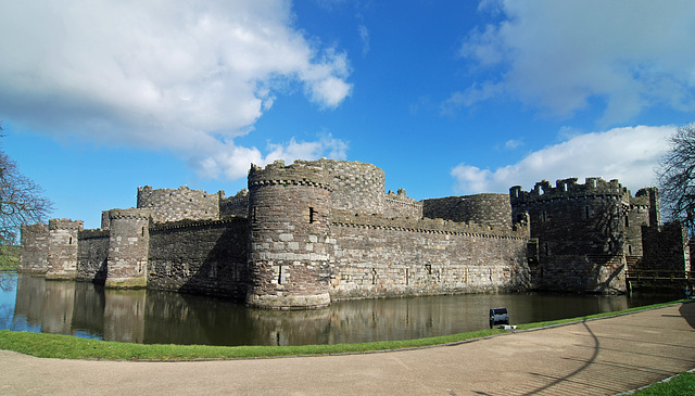
[{"label": "large bright white cloud filling the upper left sky", "polygon": [[11,33],[0,35],[0,115],[45,133],[170,149],[205,173],[237,175],[237,162],[263,157],[232,139],[279,94],[303,87],[333,108],[352,90],[346,55],[305,37],[290,5],[0,0]]}]

